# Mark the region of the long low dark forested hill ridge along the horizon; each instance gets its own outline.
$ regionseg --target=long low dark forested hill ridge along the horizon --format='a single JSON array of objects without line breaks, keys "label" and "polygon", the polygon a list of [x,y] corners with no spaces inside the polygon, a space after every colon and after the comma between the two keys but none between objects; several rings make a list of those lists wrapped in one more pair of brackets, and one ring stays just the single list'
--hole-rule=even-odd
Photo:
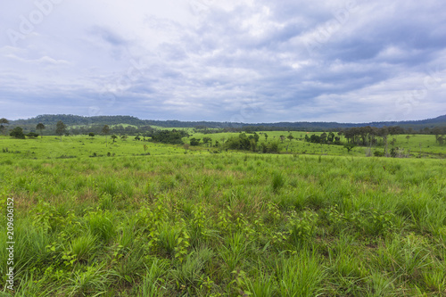
[{"label": "long low dark forested hill ridge along the horizon", "polygon": [[352,128],[371,126],[381,128],[384,126],[401,126],[401,128],[434,128],[446,127],[446,115],[427,120],[404,120],[404,121],[379,121],[369,123],[337,123],[337,122],[277,122],[277,123],[234,123],[217,121],[180,121],[180,120],[140,120],[132,116],[95,116],[84,117],[72,114],[44,114],[28,120],[11,120],[12,126],[33,126],[43,123],[45,126],[53,126],[58,120],[62,120],[67,126],[92,126],[92,125],[118,125],[128,124],[135,126],[159,126],[163,128],[242,128],[242,127],[264,127],[264,128],[290,128],[290,129],[329,129],[329,128]]}]

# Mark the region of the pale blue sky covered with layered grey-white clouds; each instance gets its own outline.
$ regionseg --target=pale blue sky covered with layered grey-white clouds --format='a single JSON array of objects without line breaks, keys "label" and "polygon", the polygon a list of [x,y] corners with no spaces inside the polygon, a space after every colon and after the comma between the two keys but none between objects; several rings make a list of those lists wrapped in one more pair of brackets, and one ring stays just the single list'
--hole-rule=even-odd
[{"label": "pale blue sky covered with layered grey-white clouds", "polygon": [[370,122],[446,114],[444,0],[0,4],[0,118]]}]

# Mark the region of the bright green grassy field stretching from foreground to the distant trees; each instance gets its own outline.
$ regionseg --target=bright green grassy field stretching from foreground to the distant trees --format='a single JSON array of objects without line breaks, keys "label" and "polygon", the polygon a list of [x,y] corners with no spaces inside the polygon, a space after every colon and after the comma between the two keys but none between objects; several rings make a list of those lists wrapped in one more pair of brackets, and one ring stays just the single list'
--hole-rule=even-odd
[{"label": "bright green grassy field stretching from foreground to the distant trees", "polygon": [[0,296],[446,296],[444,149],[395,146],[419,143],[398,159],[0,136]]}]

